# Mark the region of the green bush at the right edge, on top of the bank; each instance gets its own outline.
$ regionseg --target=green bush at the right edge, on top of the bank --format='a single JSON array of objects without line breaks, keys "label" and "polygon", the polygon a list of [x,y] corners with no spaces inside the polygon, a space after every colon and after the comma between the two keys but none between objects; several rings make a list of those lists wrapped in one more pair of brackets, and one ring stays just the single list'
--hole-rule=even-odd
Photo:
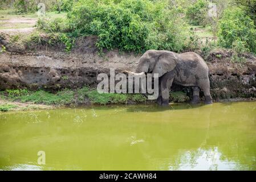
[{"label": "green bush at the right edge, on top of the bank", "polygon": [[225,48],[242,47],[256,53],[256,27],[243,11],[227,10],[220,21],[218,44]]}]

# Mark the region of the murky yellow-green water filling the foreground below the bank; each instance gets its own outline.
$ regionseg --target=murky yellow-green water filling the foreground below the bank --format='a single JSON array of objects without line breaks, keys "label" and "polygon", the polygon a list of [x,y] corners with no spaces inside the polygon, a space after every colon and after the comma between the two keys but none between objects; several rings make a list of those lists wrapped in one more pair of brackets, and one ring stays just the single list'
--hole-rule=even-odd
[{"label": "murky yellow-green water filling the foreground below the bank", "polygon": [[1,113],[0,169],[255,170],[256,102]]}]

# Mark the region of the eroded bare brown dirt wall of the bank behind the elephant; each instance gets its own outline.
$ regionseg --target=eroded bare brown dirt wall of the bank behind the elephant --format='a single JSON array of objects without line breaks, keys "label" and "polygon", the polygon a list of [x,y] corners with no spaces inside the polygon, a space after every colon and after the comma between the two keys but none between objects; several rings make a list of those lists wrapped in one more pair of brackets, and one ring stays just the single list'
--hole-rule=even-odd
[{"label": "eroded bare brown dirt wall of the bank behind the elephant", "polygon": [[[0,41],[6,52],[0,55],[0,89],[62,89],[96,86],[97,75],[115,69],[134,71],[140,55],[105,52],[99,56],[93,38],[76,43],[70,54],[58,47],[17,48]],[[231,52],[211,52],[206,59],[210,69],[211,93],[214,100],[256,97],[256,57],[246,56],[245,63],[231,63]],[[174,85],[174,90],[190,94],[189,88]]]}]

